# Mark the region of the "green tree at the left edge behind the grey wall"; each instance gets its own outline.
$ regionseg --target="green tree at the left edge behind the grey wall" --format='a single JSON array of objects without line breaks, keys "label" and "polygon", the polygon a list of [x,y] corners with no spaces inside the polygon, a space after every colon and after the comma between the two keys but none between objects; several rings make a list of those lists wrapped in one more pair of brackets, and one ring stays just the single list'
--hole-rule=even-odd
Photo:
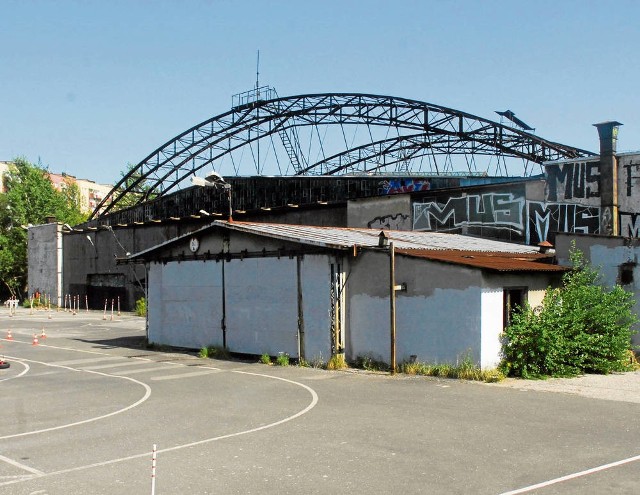
[{"label": "green tree at the left edge behind the grey wall", "polygon": [[17,296],[27,281],[27,231],[23,227],[45,223],[51,216],[76,225],[86,215],[79,208],[76,184],[57,191],[49,172],[24,158],[13,162],[5,174],[5,186],[7,192],[0,194],[0,290]]}]

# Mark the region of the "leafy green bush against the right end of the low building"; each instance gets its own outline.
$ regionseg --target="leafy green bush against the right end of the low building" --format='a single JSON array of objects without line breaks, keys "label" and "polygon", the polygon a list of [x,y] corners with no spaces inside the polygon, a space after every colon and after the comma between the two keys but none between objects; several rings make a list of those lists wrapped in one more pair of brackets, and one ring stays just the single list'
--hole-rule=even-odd
[{"label": "leafy green bush against the right end of the low building", "polygon": [[548,289],[539,308],[517,311],[505,330],[501,369],[523,378],[631,369],[633,294],[598,285],[598,272],[571,250],[573,269]]}]

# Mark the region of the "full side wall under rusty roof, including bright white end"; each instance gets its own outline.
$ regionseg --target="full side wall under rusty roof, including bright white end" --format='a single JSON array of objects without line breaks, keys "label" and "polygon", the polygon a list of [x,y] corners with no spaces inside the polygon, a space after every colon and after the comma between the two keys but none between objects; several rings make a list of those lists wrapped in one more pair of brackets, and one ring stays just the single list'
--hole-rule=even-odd
[{"label": "full side wall under rusty roof, including bright white end", "polygon": [[[390,318],[387,253],[351,260],[348,282],[347,357],[369,355],[389,362]],[[396,256],[396,359],[457,363],[466,356],[483,368],[501,359],[503,289],[527,289],[537,306],[557,283],[547,273],[503,274]]]}]

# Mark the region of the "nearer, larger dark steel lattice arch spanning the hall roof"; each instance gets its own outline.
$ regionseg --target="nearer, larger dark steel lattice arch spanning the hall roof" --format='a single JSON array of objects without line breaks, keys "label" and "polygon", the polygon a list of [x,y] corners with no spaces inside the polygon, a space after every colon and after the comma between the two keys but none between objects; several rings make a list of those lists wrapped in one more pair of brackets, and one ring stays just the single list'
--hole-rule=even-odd
[{"label": "nearer, larger dark steel lattice arch spanning the hall roof", "polygon": [[[286,125],[289,121],[292,123]],[[481,143],[497,152],[536,163],[593,155],[589,151],[547,141],[465,112],[406,98],[357,93],[290,96],[235,107],[168,141],[122,177],[96,207],[91,218],[96,217],[101,210],[101,214],[106,214],[128,193],[140,192],[139,186],[143,184],[151,185],[144,191],[139,203],[147,200],[150,195],[166,194],[189,174],[197,172],[220,156],[255,141],[255,138],[244,139],[242,133],[250,134],[252,129],[259,130],[261,126],[274,122],[275,126],[260,138],[289,127],[366,124],[393,126],[430,135],[447,135],[462,143]],[[222,144],[225,141],[228,141],[228,146]],[[236,144],[231,146],[232,142]],[[214,156],[214,150],[220,153]],[[476,153],[477,149],[473,152]],[[188,166],[190,161],[191,166]],[[198,161],[201,163],[197,163]],[[305,171],[313,170],[316,166],[321,167],[321,162],[307,167]],[[331,173],[338,173],[342,169],[344,167]],[[169,177],[173,173],[176,178],[171,180]],[[123,189],[124,184],[127,186]]]}]

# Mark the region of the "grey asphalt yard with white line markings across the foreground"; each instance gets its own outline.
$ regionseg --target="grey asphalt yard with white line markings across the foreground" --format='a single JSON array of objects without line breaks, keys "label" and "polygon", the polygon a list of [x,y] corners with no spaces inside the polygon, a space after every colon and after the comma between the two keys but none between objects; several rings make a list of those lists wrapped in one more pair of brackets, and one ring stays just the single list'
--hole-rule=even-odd
[{"label": "grey asphalt yard with white line markings across the foreground", "polygon": [[102,312],[7,311],[0,338],[0,495],[150,493],[154,445],[157,494],[639,489],[637,373],[489,385],[203,360]]}]

